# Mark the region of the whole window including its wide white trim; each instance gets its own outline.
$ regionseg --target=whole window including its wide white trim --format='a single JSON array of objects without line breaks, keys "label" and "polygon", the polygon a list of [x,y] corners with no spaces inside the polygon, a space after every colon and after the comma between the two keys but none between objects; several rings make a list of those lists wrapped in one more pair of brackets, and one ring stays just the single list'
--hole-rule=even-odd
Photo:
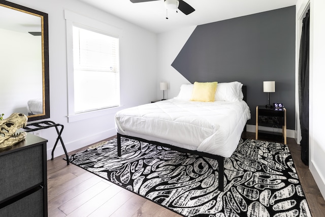
[{"label": "whole window including its wide white trim", "polygon": [[119,43],[123,30],[64,10],[67,26],[68,121],[121,109]]}]

